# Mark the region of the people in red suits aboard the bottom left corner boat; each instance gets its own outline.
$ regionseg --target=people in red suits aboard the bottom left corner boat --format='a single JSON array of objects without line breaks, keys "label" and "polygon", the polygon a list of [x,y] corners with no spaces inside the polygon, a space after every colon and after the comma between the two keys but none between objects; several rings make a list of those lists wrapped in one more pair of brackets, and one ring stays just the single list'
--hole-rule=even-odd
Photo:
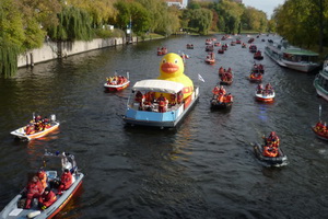
[{"label": "people in red suits aboard the bottom left corner boat", "polygon": [[[67,191],[72,185],[72,174],[66,169],[57,185],[57,195],[61,195],[63,191]],[[42,210],[45,210],[57,200],[57,196],[50,186],[48,186],[48,183],[47,174],[43,170],[39,170],[37,174],[32,177],[24,189],[24,196],[26,197],[25,209],[32,207],[34,198],[38,199],[38,207]]]}]

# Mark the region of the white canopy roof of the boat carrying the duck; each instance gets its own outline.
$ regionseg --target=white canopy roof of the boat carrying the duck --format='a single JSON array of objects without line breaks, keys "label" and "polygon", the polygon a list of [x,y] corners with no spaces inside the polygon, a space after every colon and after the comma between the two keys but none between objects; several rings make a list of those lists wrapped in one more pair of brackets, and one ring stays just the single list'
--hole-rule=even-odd
[{"label": "white canopy roof of the boat carrying the duck", "polygon": [[133,91],[155,91],[163,93],[177,93],[183,89],[184,84],[181,83],[159,79],[138,81],[132,88]]}]

